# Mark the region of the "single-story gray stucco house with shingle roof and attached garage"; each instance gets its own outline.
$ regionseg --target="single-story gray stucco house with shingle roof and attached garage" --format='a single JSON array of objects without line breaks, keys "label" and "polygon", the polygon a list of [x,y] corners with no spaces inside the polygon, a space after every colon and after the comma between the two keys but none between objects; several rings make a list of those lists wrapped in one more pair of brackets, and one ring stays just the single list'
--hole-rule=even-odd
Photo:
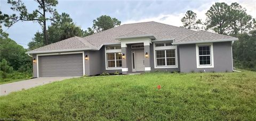
[{"label": "single-story gray stucco house with shingle roof and attached garage", "polygon": [[158,22],[124,24],[28,51],[34,77],[147,71],[231,72],[238,38]]}]

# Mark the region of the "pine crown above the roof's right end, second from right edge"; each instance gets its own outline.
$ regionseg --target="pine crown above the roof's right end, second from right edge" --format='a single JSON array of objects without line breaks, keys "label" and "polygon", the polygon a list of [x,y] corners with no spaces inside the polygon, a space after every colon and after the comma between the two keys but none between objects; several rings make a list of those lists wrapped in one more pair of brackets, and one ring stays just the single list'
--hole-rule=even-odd
[{"label": "pine crown above the roof's right end, second from right edge", "polygon": [[229,27],[230,6],[226,3],[215,3],[206,14],[206,29],[225,34]]}]

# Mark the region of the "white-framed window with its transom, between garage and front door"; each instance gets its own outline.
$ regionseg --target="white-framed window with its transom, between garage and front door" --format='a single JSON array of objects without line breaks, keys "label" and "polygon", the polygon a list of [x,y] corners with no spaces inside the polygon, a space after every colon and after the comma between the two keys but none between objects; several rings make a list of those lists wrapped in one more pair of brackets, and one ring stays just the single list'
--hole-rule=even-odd
[{"label": "white-framed window with its transom, between garage and front door", "polygon": [[106,46],[106,69],[122,68],[121,46]]}]

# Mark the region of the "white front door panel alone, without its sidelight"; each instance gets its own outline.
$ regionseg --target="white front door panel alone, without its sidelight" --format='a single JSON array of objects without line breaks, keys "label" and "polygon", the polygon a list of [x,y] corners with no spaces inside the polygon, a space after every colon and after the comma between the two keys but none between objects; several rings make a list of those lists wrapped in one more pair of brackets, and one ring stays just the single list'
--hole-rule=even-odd
[{"label": "white front door panel alone, without its sidelight", "polygon": [[135,51],[135,70],[144,71],[144,53],[143,51]]}]

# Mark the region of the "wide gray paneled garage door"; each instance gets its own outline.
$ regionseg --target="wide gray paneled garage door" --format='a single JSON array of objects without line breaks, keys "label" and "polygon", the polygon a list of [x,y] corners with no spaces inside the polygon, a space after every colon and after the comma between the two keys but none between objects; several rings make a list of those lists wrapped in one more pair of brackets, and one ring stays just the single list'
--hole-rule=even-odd
[{"label": "wide gray paneled garage door", "polygon": [[83,54],[38,57],[39,77],[82,76]]}]

